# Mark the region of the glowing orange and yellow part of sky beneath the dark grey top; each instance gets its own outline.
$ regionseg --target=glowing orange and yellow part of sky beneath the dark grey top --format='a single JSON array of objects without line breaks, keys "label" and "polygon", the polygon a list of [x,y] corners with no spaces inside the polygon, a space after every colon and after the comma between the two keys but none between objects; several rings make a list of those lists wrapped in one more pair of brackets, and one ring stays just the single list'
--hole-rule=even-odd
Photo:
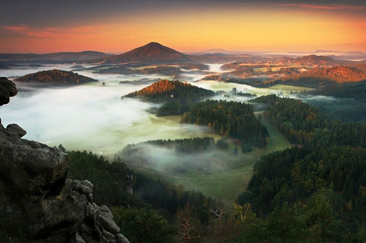
[{"label": "glowing orange and yellow part of sky beneath the dark grey top", "polygon": [[[73,23],[3,24],[0,52],[123,52],[150,41],[178,51],[210,48],[239,51],[366,52],[365,9],[343,5],[236,5],[113,15]],[[330,9],[329,9],[330,8]]]}]

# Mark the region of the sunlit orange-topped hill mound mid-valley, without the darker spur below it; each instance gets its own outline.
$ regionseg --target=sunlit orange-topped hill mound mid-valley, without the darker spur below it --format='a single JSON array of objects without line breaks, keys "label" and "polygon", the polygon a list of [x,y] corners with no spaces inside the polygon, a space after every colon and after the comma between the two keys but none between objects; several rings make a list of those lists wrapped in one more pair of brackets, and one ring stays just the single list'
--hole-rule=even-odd
[{"label": "sunlit orange-topped hill mound mid-valley, without the darker spur below it", "polygon": [[126,94],[123,97],[137,97],[142,100],[160,103],[180,101],[182,103],[191,103],[200,101],[204,97],[212,96],[215,93],[210,90],[193,86],[190,83],[181,81],[161,80],[153,83],[142,90]]}]

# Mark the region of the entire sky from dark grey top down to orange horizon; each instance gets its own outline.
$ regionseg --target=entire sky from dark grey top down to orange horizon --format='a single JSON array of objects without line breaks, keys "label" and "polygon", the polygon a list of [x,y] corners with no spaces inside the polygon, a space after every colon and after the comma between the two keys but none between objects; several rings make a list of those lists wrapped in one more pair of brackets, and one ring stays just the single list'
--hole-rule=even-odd
[{"label": "entire sky from dark grey top down to orange horizon", "polygon": [[0,53],[366,52],[366,1],[2,0]]}]

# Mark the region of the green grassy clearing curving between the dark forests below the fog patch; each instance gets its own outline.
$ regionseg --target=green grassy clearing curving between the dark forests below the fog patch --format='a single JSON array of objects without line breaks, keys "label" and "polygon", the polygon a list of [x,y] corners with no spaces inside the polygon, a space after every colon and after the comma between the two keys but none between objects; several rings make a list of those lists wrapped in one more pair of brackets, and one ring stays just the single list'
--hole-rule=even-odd
[{"label": "green grassy clearing curving between the dark forests below the fog patch", "polygon": [[[261,112],[256,112],[256,115],[259,115],[259,113]],[[206,196],[221,199],[228,207],[231,207],[237,199],[237,196],[247,187],[255,162],[266,153],[283,150],[291,146],[284,135],[269,124],[268,121],[262,119],[262,123],[269,131],[268,146],[264,149],[253,148],[253,151],[247,154],[239,152],[237,156],[243,159],[236,167],[227,168],[225,171],[213,172],[211,174],[187,173],[167,175],[161,174],[159,171],[140,170],[140,172],[156,179],[161,178],[176,184],[181,184],[188,190],[202,191]],[[230,150],[235,147],[234,144],[230,146]],[[241,151],[239,147],[237,148]],[[233,156],[235,155],[233,154]]]}]

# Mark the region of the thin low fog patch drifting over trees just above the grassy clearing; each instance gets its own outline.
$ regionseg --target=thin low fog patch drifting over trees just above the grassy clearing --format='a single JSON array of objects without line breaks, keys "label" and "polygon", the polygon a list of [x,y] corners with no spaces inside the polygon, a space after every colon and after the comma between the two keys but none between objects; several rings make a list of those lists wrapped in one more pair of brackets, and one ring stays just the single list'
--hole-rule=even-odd
[{"label": "thin low fog patch drifting over trees just above the grassy clearing", "polygon": [[151,144],[136,144],[133,149],[121,150],[120,157],[129,168],[158,172],[163,175],[195,173],[201,168],[203,173],[213,173],[235,167],[243,163],[245,154],[234,155],[233,150],[208,150],[184,153]]}]

